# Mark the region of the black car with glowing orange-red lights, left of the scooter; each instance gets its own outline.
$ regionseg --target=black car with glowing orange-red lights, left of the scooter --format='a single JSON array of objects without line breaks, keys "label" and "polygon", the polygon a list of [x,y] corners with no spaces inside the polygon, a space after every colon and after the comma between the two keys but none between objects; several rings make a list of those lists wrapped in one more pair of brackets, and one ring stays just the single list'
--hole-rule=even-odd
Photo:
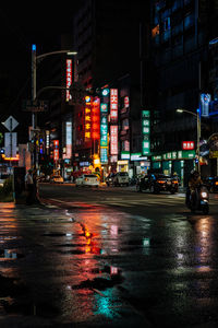
[{"label": "black car with glowing orange-red lights, left of the scooter", "polygon": [[179,180],[177,177],[170,177],[165,174],[148,174],[142,177],[136,184],[136,190],[142,192],[149,190],[158,194],[160,191],[178,192]]}]

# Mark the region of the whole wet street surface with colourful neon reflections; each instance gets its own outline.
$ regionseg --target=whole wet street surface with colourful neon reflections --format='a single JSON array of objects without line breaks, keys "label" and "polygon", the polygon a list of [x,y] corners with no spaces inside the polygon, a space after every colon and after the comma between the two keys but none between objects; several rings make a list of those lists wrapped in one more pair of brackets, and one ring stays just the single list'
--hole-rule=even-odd
[{"label": "whole wet street surface with colourful neon reflections", "polygon": [[40,185],[0,204],[0,327],[217,327],[218,195]]}]

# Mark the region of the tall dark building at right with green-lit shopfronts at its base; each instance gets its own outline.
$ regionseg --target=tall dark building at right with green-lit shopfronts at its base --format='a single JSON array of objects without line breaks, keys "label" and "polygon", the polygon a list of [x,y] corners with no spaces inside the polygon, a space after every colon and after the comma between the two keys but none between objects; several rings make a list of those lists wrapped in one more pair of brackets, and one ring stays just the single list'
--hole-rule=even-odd
[{"label": "tall dark building at right with green-lit shopfronts at its base", "polygon": [[[214,38],[216,16],[217,1],[152,1],[150,55],[155,71],[153,166],[159,166],[169,174],[177,172],[184,183],[194,167],[195,155],[184,153],[182,142],[194,141],[197,144],[196,116],[178,114],[177,109],[196,114],[197,108],[202,110],[202,94],[210,94],[214,99],[213,82],[209,85],[208,81],[208,49],[209,40]],[[201,137],[208,139],[216,127],[211,129],[209,115],[201,118]],[[208,174],[210,161],[199,157],[196,162],[198,160],[201,164],[208,164],[201,165],[202,172]]]}]

